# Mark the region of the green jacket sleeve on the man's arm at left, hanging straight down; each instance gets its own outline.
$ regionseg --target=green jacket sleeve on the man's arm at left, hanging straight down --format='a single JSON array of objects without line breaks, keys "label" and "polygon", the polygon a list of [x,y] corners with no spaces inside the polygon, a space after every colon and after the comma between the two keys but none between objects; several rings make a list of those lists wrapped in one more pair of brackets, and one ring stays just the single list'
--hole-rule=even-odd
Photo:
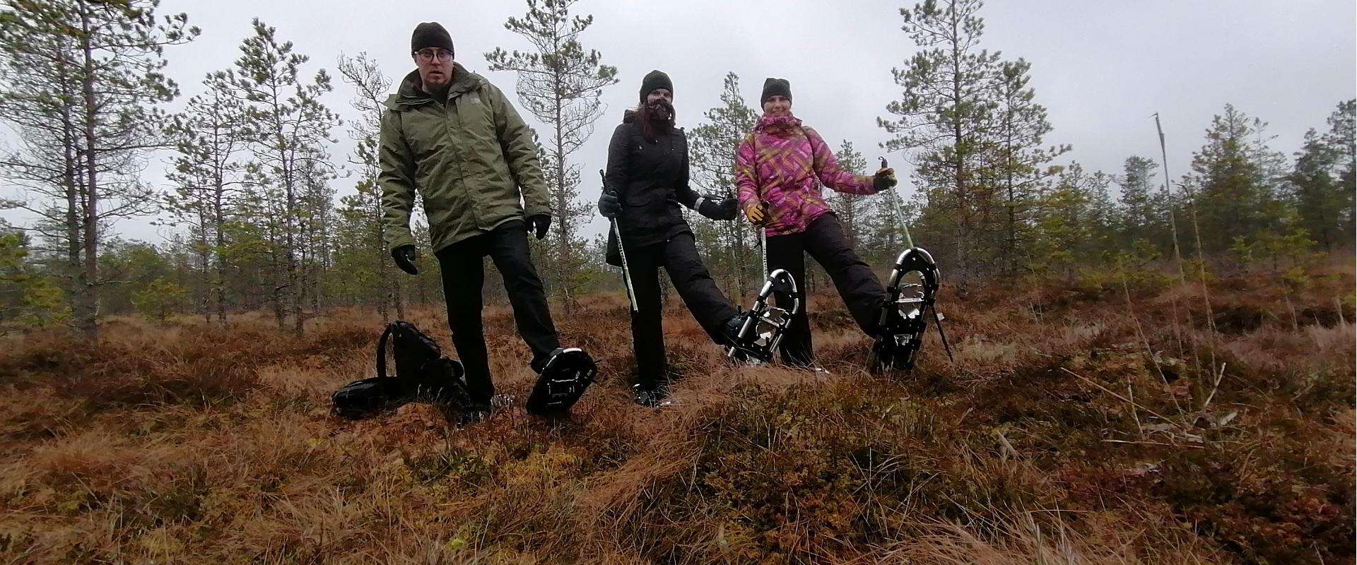
[{"label": "green jacket sleeve on the man's arm at left, hanging straight down", "polygon": [[377,184],[381,187],[381,233],[387,249],[414,245],[410,233],[410,213],[415,205],[415,163],[402,138],[400,115],[381,114],[381,133],[377,142]]}]

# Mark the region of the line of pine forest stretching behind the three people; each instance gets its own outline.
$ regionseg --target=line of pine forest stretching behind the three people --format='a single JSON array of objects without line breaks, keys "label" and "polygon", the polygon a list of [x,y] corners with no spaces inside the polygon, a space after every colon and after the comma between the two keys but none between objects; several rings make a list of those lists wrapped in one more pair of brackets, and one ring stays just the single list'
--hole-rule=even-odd
[{"label": "line of pine forest stretching behind the three people", "polygon": [[[15,142],[0,152],[0,206],[37,221],[0,224],[0,325],[69,325],[92,336],[110,314],[225,322],[263,310],[300,333],[337,308],[391,318],[410,304],[441,302],[430,249],[421,275],[408,276],[383,245],[376,148],[391,76],[361,53],[339,54],[334,73],[313,69],[255,19],[239,58],[170,112],[180,92],[163,73],[167,53],[199,30],[186,14],[157,14],[157,4],[4,0],[0,123]],[[533,241],[533,257],[567,310],[581,295],[622,289],[603,263],[603,236],[582,233],[598,187],[575,159],[617,69],[584,46],[593,16],[574,7],[529,1],[505,27],[531,49],[484,54],[491,70],[517,73],[520,111],[544,125],[537,138],[558,219]],[[1158,154],[1088,171],[1063,159],[1072,148],[1056,142],[1029,85],[1031,62],[984,45],[981,7],[928,0],[901,9],[916,49],[889,70],[898,98],[882,100],[878,125],[883,149],[908,163],[893,165],[908,169],[915,195],[828,192],[873,266],[886,268],[911,236],[962,291],[993,278],[1073,279],[1113,263],[1285,272],[1316,253],[1350,252],[1354,100],[1339,102],[1291,156],[1273,146],[1265,121],[1224,104],[1181,176],[1170,177]],[[351,89],[349,100],[335,100],[335,81]],[[358,118],[341,121],[332,104]],[[727,73],[721,103],[687,129],[696,190],[734,194],[735,148],[759,115]],[[353,152],[334,154],[338,135],[351,138]],[[845,169],[871,173],[871,149],[843,141],[836,154]],[[144,172],[163,150],[174,154],[168,184],[148,184]],[[356,177],[354,191],[337,198],[342,172]],[[111,222],[133,217],[153,217],[172,236],[144,243],[110,233]],[[712,275],[742,299],[761,282],[754,232],[688,218]],[[427,245],[427,226],[414,229]],[[487,297],[498,291],[487,285]]]}]

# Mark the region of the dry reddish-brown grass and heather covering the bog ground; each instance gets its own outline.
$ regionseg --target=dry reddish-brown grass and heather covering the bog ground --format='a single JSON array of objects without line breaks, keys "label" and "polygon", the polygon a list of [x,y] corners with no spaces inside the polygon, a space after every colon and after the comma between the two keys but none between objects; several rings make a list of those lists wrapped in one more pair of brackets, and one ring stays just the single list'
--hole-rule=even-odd
[{"label": "dry reddish-brown grass and heather covering the bog ground", "polygon": [[[27,336],[0,355],[0,562],[1350,564],[1352,267],[1322,275],[1295,318],[1217,282],[1223,373],[1204,322],[1164,321],[1177,289],[1137,289],[1134,318],[1120,287],[944,294],[957,363],[931,333],[894,378],[833,297],[832,375],[726,366],[674,305],[661,411],[630,401],[624,298],[585,297],[558,324],[603,377],[574,413],[465,430],[328,415],[372,371],[362,312],[301,339],[265,314]],[[411,318],[449,344],[440,309]],[[487,335],[524,397],[506,308]]]}]

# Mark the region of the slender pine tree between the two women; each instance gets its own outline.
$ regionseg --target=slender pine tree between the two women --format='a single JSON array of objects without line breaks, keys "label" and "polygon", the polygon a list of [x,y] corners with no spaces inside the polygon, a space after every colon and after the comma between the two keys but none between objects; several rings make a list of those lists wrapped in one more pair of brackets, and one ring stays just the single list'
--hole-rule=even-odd
[{"label": "slender pine tree between the two women", "polygon": [[[759,111],[740,95],[740,76],[726,73],[721,106],[703,112],[703,122],[688,133],[691,176],[721,196],[735,195],[735,150],[759,123]],[[703,232],[699,243],[707,266],[725,282],[726,295],[737,297],[763,283],[763,261],[754,233],[742,221],[711,222],[691,214]],[[707,229],[702,229],[706,226]]]}]

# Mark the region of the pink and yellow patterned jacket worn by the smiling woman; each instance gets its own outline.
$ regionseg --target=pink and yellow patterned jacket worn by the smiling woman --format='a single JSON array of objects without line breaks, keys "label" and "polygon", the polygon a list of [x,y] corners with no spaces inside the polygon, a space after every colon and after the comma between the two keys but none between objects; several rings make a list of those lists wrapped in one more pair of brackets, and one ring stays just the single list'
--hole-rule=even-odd
[{"label": "pink and yellow patterned jacket worn by the smiling woman", "polygon": [[871,176],[840,169],[825,140],[790,114],[763,117],[735,152],[740,209],[767,201],[764,228],[769,237],[805,232],[811,221],[830,211],[817,177],[840,192],[877,192]]}]

